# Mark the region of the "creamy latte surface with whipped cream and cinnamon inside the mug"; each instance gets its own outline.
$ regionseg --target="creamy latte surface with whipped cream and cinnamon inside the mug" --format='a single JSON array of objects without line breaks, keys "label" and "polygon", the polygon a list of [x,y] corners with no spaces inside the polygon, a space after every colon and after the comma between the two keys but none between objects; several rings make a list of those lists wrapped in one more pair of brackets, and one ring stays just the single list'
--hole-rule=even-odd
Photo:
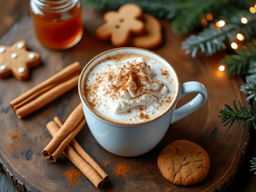
[{"label": "creamy latte surface with whipped cream and cinnamon inside the mug", "polygon": [[148,55],[123,53],[96,58],[82,94],[100,118],[121,125],[153,121],[173,106],[176,72]]}]

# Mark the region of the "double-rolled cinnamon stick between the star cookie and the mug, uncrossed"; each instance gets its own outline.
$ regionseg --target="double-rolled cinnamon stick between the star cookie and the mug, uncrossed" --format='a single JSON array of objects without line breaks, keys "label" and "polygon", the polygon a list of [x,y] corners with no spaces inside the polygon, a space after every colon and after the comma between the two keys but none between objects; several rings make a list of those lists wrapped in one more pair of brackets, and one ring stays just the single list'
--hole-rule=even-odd
[{"label": "double-rolled cinnamon stick between the star cookie and the mug, uncrossed", "polygon": [[23,118],[50,103],[63,93],[76,87],[81,71],[80,63],[74,62],[49,79],[12,100],[10,106],[19,118]]}]

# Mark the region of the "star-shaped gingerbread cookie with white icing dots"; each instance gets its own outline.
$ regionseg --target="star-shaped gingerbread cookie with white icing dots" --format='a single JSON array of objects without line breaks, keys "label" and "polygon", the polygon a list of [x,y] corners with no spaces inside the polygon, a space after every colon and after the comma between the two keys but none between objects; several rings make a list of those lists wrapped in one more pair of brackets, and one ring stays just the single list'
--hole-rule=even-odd
[{"label": "star-shaped gingerbread cookie with white icing dots", "polygon": [[8,47],[0,45],[0,78],[11,74],[19,80],[29,77],[29,68],[40,64],[40,55],[27,50],[24,40]]}]

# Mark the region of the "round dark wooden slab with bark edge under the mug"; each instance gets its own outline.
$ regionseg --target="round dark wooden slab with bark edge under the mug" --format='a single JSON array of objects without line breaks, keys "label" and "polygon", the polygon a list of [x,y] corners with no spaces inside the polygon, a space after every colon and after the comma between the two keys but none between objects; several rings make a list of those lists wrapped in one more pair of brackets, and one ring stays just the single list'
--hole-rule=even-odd
[{"label": "round dark wooden slab with bark edge under the mug", "polygon": [[[64,122],[79,104],[78,89],[75,88],[42,109],[24,119],[18,119],[9,102],[41,83],[74,61],[82,66],[97,54],[113,48],[109,42],[95,37],[96,28],[103,23],[103,14],[83,9],[85,31],[81,41],[64,51],[51,51],[44,48],[36,39],[30,18],[25,18],[8,32],[0,44],[13,45],[25,39],[30,50],[39,52],[42,64],[31,70],[29,80],[19,81],[14,77],[0,79],[0,162],[9,179],[20,191],[172,191],[203,192],[225,191],[237,175],[243,162],[249,141],[249,130],[236,128],[229,131],[221,124],[219,111],[224,103],[232,106],[232,100],[240,98],[246,106],[246,96],[239,91],[241,78],[230,79],[218,71],[224,53],[213,57],[192,59],[181,50],[185,39],[174,34],[171,22],[162,20],[164,43],[155,52],[166,58],[179,74],[181,83],[199,81],[208,90],[208,100],[203,107],[184,119],[173,123],[163,140],[152,151],[138,157],[119,157],[104,150],[94,139],[88,126],[84,126],[76,140],[89,155],[109,174],[109,180],[101,189],[80,175],[70,182],[65,175],[67,170],[76,167],[61,155],[55,163],[42,157],[41,151],[51,140],[45,125],[55,116]],[[188,102],[195,95],[184,97],[178,106]],[[209,174],[198,184],[177,186],[165,180],[158,167],[157,156],[164,146],[178,140],[188,139],[201,145],[209,154],[211,166]],[[108,166],[105,166],[107,165]],[[118,172],[124,166],[126,173]],[[117,173],[120,173],[119,175]],[[73,184],[73,185],[72,185]]]}]

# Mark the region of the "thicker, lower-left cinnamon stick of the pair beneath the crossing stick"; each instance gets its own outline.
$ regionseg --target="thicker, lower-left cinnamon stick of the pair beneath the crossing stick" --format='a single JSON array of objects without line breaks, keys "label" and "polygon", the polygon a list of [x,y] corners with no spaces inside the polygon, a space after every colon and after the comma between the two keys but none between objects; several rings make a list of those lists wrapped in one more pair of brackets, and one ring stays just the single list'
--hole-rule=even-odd
[{"label": "thicker, lower-left cinnamon stick of the pair beneath the crossing stick", "polygon": [[[51,121],[47,124],[47,129],[49,130],[52,137],[58,134],[59,126],[55,121]],[[67,146],[63,154],[97,187],[100,188],[104,180],[101,176],[86,162],[82,157],[77,154],[77,152],[71,147]]]}]

